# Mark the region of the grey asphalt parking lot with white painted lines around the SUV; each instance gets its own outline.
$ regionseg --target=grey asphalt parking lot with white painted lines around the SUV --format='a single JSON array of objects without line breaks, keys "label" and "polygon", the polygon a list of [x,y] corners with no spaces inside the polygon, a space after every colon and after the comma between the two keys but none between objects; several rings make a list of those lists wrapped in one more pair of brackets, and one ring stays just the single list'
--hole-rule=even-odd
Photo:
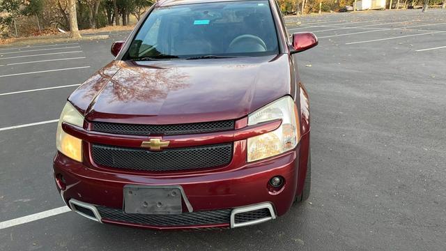
[{"label": "grey asphalt parking lot with white painted lines around the SUV", "polygon": [[312,195],[277,220],[222,231],[101,225],[68,212],[56,191],[55,121],[128,31],[0,47],[0,250],[445,250],[446,11],[285,20],[319,38],[298,54]]}]

